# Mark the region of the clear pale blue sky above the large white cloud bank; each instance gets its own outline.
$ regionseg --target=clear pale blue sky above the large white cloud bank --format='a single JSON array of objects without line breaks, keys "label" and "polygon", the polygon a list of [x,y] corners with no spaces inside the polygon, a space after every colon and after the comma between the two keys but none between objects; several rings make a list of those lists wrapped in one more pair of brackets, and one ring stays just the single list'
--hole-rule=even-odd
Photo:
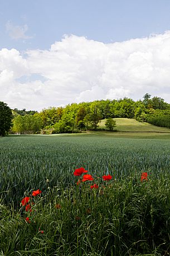
[{"label": "clear pale blue sky above the large white cloud bank", "polygon": [[[48,49],[64,34],[110,43],[170,29],[169,0],[7,0],[0,7],[0,47],[8,49]],[[7,22],[27,25],[30,38],[10,38]]]}]

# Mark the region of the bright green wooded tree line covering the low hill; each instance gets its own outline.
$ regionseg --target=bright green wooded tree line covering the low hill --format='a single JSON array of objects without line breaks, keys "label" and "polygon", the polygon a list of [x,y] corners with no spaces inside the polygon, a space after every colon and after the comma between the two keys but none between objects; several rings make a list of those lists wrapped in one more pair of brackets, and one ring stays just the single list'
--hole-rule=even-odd
[{"label": "bright green wooded tree line covering the low hill", "polygon": [[113,118],[134,118],[139,122],[170,128],[170,104],[161,97],[145,94],[143,100],[134,101],[127,97],[119,100],[95,100],[72,103],[65,107],[50,107],[36,111],[14,109],[13,133],[51,134],[77,133],[99,129],[101,119],[106,119],[106,129],[113,131]]}]

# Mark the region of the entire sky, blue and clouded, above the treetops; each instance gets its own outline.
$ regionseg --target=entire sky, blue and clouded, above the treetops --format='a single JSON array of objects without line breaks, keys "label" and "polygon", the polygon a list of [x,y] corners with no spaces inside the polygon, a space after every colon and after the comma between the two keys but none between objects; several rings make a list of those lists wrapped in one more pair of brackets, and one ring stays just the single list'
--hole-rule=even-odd
[{"label": "entire sky, blue and clouded, above the treetops", "polygon": [[170,103],[169,0],[0,2],[0,101],[38,110],[82,101]]}]

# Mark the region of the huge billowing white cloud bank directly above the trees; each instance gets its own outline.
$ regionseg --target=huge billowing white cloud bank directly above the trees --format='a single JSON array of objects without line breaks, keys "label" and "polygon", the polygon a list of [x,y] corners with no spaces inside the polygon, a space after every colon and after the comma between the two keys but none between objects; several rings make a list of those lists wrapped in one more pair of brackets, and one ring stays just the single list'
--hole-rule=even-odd
[{"label": "huge billowing white cloud bank directly above the trees", "polygon": [[49,50],[24,55],[2,49],[0,100],[11,108],[41,110],[97,99],[137,100],[148,92],[170,103],[169,45],[167,31],[110,44],[65,35]]}]

